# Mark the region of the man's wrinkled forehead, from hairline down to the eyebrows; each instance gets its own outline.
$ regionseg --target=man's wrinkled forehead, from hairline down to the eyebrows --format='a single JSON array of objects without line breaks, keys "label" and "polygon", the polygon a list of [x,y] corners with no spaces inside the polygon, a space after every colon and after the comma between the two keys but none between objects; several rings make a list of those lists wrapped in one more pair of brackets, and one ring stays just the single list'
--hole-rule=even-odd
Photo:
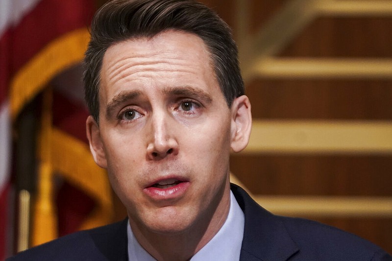
[{"label": "man's wrinkled forehead, from hairline down to the eyebrows", "polygon": [[106,50],[101,70],[103,93],[112,96],[124,85],[145,89],[157,82],[195,88],[218,86],[220,90],[211,55],[196,34],[169,30],[154,37],[129,39]]}]

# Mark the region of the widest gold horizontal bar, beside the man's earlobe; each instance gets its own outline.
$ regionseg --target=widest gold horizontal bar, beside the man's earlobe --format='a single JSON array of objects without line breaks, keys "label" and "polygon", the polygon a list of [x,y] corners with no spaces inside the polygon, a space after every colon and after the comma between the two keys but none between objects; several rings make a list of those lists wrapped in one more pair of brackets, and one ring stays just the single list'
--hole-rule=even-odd
[{"label": "widest gold horizontal bar, beside the man's earlobe", "polygon": [[392,154],[392,121],[256,120],[241,153]]}]

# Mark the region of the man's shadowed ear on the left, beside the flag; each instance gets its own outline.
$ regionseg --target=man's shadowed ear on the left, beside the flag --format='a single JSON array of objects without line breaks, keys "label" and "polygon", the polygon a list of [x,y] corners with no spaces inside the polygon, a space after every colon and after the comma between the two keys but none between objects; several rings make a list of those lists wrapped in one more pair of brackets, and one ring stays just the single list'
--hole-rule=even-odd
[{"label": "man's shadowed ear on the left, beside the flag", "polygon": [[106,153],[103,146],[98,123],[90,115],[86,121],[87,139],[90,143],[90,151],[93,154],[94,161],[98,166],[107,168]]}]

